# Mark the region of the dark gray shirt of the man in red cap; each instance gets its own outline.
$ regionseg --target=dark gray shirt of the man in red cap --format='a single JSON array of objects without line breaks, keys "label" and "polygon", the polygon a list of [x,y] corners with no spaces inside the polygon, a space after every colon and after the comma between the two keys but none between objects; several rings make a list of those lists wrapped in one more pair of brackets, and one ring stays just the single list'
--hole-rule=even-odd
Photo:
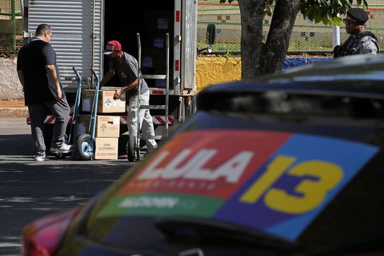
[{"label": "dark gray shirt of the man in red cap", "polygon": [[[130,54],[126,52],[123,53],[123,59],[121,64],[115,60],[111,59],[109,61],[109,67],[114,69],[117,72],[118,78],[120,78],[122,86],[130,85],[137,78],[137,60]],[[145,80],[142,79],[141,91],[140,94],[148,91],[148,85]],[[137,93],[137,88],[133,88],[127,91],[127,95],[133,96]]]}]

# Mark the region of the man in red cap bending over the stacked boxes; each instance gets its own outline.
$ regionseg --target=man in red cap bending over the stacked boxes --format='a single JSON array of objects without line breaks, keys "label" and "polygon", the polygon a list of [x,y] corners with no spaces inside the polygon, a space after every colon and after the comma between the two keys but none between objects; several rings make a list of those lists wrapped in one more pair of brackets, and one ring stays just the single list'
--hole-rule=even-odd
[{"label": "man in red cap bending over the stacked boxes", "polygon": [[[128,53],[121,50],[118,41],[108,41],[105,50],[102,52],[109,57],[109,70],[100,81],[100,88],[116,72],[120,78],[122,87],[116,89],[113,98],[119,98],[122,92],[126,93],[129,99],[127,125],[129,135],[137,136],[137,93],[140,93],[140,104],[149,105],[149,89],[144,79],[141,79],[140,92],[138,92],[137,60]],[[140,109],[140,129],[143,135],[154,135],[152,116],[149,109]],[[147,139],[146,146],[154,148],[157,146],[154,139]]]}]

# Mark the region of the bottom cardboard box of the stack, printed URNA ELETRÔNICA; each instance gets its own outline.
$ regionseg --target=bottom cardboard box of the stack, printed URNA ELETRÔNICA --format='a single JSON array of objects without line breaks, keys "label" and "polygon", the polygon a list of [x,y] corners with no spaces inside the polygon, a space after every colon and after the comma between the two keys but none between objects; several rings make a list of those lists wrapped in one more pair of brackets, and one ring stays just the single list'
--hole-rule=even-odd
[{"label": "bottom cardboard box of the stack, printed URNA ELETR\u00d4NICA", "polygon": [[117,159],[118,138],[95,137],[94,159]]}]

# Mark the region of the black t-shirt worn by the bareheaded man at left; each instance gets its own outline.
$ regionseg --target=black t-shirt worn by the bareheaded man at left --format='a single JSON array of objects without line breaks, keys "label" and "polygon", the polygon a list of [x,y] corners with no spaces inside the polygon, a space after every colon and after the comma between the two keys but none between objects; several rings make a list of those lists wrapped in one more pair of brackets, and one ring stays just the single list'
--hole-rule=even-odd
[{"label": "black t-shirt worn by the bareheaded man at left", "polygon": [[[56,86],[46,74],[45,65],[54,65],[57,79],[60,74],[56,64],[56,52],[43,40],[33,40],[21,47],[17,57],[17,70],[24,76],[25,105],[43,103],[55,99]],[[61,83],[60,83],[61,87]],[[62,97],[65,96],[61,87]]]}]

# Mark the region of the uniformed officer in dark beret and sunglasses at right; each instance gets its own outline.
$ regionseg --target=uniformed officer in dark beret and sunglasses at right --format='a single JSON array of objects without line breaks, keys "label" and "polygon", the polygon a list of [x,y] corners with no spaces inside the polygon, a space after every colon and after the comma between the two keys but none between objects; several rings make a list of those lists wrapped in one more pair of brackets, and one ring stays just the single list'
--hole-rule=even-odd
[{"label": "uniformed officer in dark beret and sunglasses at right", "polygon": [[379,53],[378,40],[376,36],[366,31],[366,21],[368,13],[361,8],[350,8],[346,12],[345,31],[350,34],[348,39],[341,44],[336,45],[333,49],[333,58],[356,55],[356,54],[373,54]]}]

